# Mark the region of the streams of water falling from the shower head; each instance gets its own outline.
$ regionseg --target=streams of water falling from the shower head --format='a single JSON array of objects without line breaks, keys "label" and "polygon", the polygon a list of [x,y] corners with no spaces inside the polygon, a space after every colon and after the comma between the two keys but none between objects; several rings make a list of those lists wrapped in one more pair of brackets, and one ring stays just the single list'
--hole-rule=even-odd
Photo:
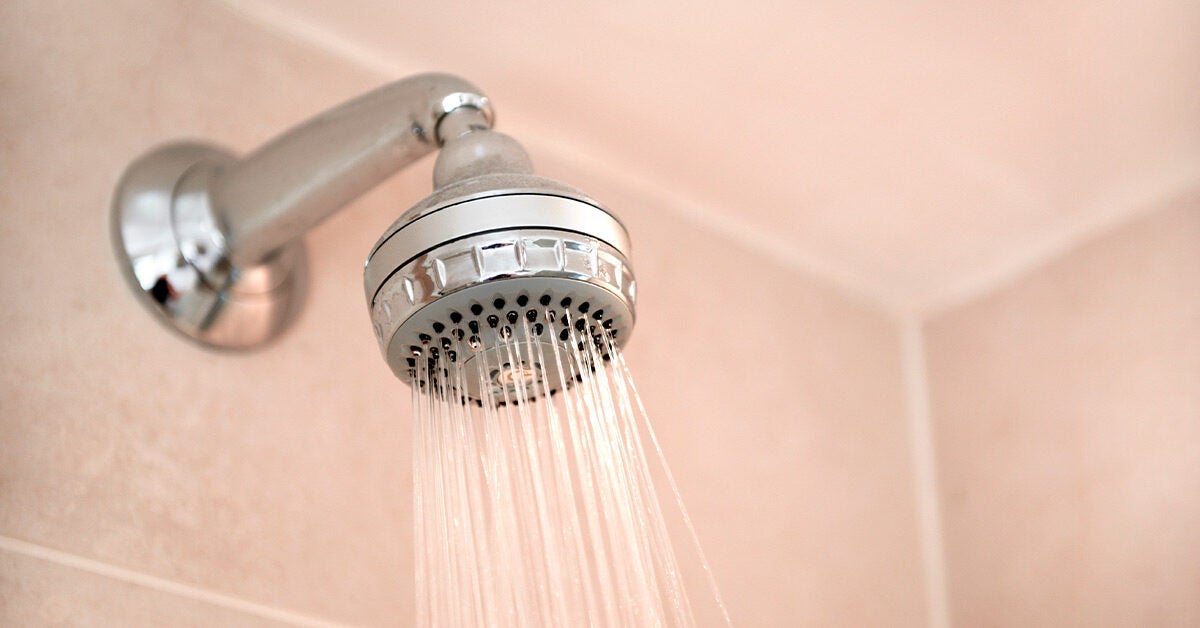
[{"label": "streams of water falling from the shower head", "polygon": [[456,329],[418,357],[418,623],[695,626],[655,474],[728,623],[612,334],[553,313],[548,333],[503,323]]}]

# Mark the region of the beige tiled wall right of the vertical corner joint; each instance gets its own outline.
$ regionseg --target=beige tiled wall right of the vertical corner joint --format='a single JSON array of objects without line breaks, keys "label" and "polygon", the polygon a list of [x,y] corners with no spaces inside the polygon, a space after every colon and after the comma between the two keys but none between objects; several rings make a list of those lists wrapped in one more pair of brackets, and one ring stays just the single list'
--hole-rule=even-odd
[{"label": "beige tiled wall right of the vertical corner joint", "polygon": [[928,324],[954,620],[1200,623],[1200,195]]}]

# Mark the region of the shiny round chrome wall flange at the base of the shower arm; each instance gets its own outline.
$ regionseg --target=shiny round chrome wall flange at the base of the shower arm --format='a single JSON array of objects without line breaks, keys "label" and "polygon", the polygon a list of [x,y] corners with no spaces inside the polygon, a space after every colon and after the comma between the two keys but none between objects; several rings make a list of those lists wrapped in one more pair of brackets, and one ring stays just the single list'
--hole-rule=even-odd
[{"label": "shiny round chrome wall flange at the base of the shower arm", "polygon": [[300,241],[258,264],[235,267],[208,189],[233,155],[172,144],[134,161],[113,198],[113,241],[138,299],[168,328],[220,348],[259,346],[304,300]]}]

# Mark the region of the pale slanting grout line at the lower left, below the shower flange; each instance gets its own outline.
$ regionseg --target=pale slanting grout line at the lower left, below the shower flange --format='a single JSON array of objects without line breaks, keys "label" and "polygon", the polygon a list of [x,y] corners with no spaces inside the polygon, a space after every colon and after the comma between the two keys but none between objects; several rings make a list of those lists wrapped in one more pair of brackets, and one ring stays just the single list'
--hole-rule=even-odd
[{"label": "pale slanting grout line at the lower left, below the shower flange", "polygon": [[128,582],[132,585],[152,588],[164,593],[179,596],[181,598],[187,598],[196,602],[211,604],[214,606],[245,612],[247,615],[253,615],[257,617],[262,617],[264,620],[272,620],[277,622],[288,623],[292,626],[304,626],[313,628],[337,628],[346,626],[343,623],[319,620],[317,617],[292,612],[274,606],[256,604],[253,602],[247,602],[245,599],[226,596],[223,593],[217,593],[215,591],[184,585],[181,582],[175,582],[173,580],[167,580],[154,575],[133,572],[131,569],[124,569],[121,567],[108,564],[101,561],[84,558],[83,556],[76,556],[74,554],[54,550],[50,548],[46,548],[43,545],[37,545],[35,543],[14,539],[12,537],[0,536],[0,550],[7,550],[13,554],[19,554],[22,556],[38,558],[46,562],[60,564],[62,567],[79,569],[82,572],[88,572],[91,574],[101,575],[121,582]]}]

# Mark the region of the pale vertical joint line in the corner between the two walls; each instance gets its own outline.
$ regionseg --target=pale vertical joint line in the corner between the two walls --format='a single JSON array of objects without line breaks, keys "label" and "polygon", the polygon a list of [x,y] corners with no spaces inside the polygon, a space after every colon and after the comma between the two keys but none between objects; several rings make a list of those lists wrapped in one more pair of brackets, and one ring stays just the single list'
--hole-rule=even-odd
[{"label": "pale vertical joint line in the corner between the two walls", "polygon": [[932,413],[929,406],[929,373],[920,321],[904,317],[900,325],[900,359],[908,414],[908,453],[912,456],[913,497],[920,545],[925,612],[930,628],[949,628],[949,592],[946,580],[946,548],[937,490],[937,459]]}]

